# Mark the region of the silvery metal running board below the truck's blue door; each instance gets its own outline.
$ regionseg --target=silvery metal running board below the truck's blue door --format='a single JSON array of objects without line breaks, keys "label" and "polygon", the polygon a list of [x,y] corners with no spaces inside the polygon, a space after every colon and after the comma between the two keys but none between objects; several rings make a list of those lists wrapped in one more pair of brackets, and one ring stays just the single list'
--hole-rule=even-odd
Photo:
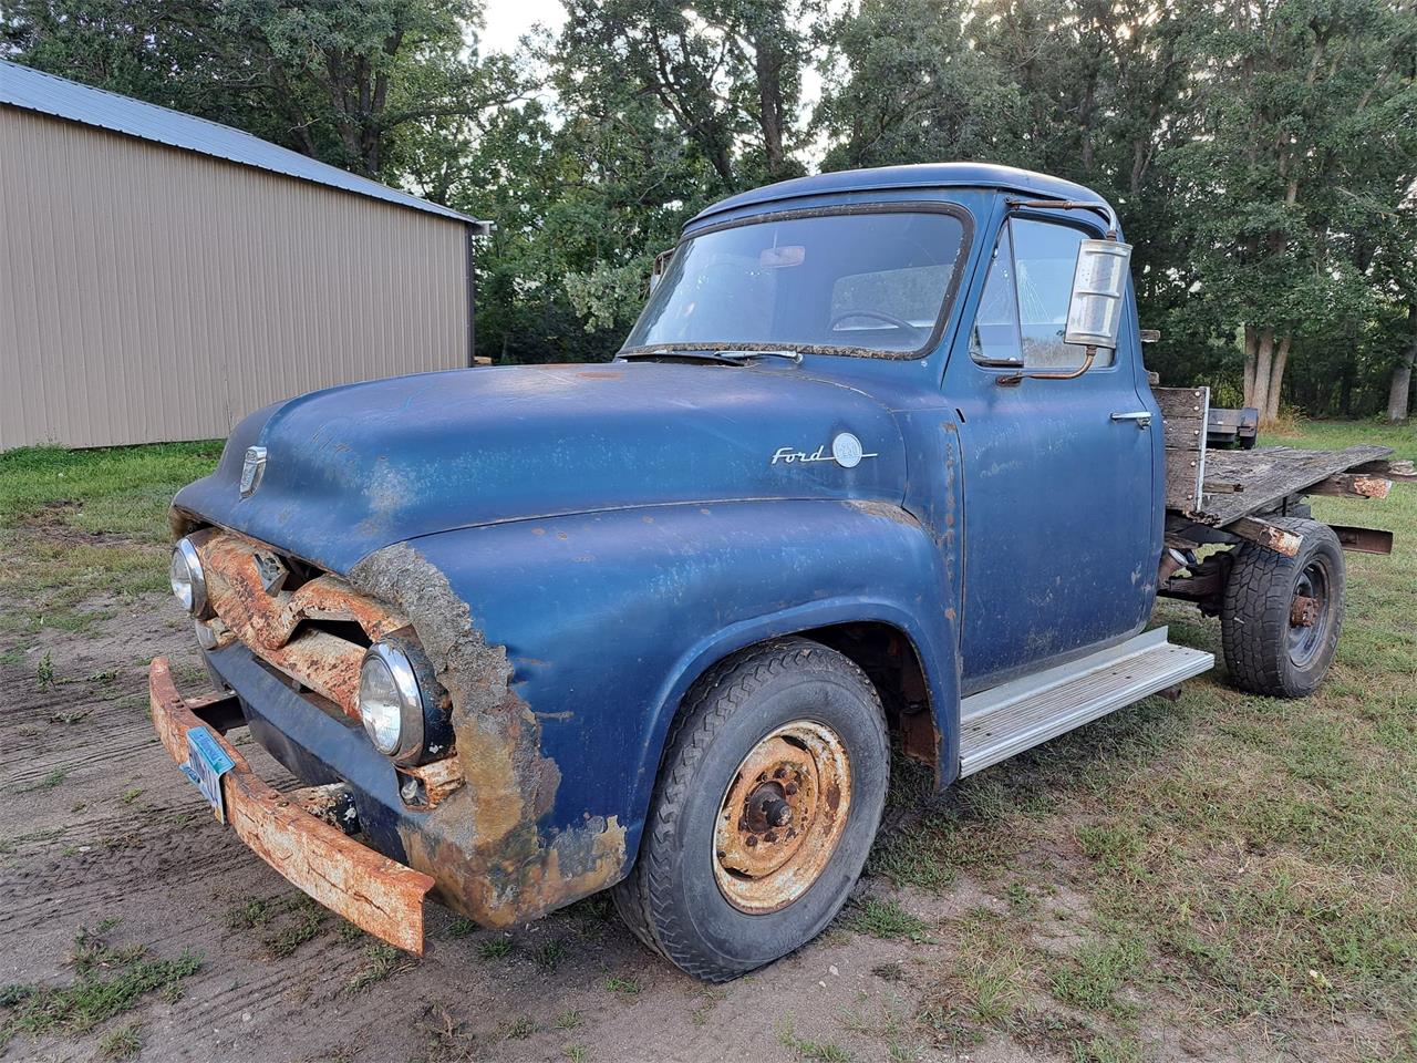
[{"label": "silvery metal running board below the truck's blue door", "polygon": [[1166,628],[1155,628],[1081,660],[971,694],[959,704],[959,774],[982,771],[1214,663],[1214,655],[1173,646]]}]

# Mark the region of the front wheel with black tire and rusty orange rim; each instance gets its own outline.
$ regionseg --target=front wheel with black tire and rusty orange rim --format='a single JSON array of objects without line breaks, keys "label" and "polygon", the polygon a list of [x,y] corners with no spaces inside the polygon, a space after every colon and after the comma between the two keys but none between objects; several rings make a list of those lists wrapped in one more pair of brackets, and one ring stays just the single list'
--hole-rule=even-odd
[{"label": "front wheel with black tire and rusty orange rim", "polygon": [[803,638],[734,655],[686,699],[615,906],[697,978],[771,962],[846,903],[888,774],[880,697],[852,660]]}]

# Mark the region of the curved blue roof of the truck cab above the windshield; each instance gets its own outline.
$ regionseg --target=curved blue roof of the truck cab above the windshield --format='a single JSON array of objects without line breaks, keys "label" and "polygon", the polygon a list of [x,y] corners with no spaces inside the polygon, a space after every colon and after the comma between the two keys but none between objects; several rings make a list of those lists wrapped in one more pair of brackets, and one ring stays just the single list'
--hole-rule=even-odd
[{"label": "curved blue roof of the truck cab above the windshield", "polygon": [[805,196],[826,196],[843,191],[880,191],[887,189],[1005,189],[1041,198],[1085,200],[1105,203],[1091,189],[1061,177],[995,163],[917,163],[914,166],[881,166],[873,170],[839,170],[812,177],[796,177],[762,189],[741,191],[701,210],[689,227],[716,214],[738,207],[795,200]]}]

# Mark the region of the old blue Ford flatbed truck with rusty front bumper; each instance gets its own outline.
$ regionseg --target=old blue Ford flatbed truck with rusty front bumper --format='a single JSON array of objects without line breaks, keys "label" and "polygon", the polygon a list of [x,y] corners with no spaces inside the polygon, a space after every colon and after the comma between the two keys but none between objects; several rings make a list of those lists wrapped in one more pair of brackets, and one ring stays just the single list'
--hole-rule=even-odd
[{"label": "old blue Ford flatbed truck with rusty front bumper", "polygon": [[1173,692],[1213,659],[1146,631],[1159,594],[1219,615],[1234,683],[1304,696],[1342,547],[1390,549],[1304,505],[1386,493],[1384,448],[1207,458],[1128,252],[1043,174],[822,174],[696,217],[612,363],[261,410],[173,502],[221,693],[154,660],[154,726],[276,870],[414,952],[429,893],[504,927],[614,887],[693,975],[781,957],[860,874],[893,741],[945,788]]}]

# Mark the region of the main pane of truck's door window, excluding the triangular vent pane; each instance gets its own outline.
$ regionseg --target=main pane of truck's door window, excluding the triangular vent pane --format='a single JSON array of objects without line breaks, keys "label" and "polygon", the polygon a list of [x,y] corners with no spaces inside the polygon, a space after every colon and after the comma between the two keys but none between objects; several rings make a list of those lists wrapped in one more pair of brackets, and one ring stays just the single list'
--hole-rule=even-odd
[{"label": "main pane of truck's door window, excluding the triangular vent pane", "polygon": [[[1063,342],[1073,292],[1077,248],[1087,237],[1071,225],[1015,218],[1013,264],[1019,289],[1019,332],[1029,369],[1077,369],[1087,349]],[[1094,364],[1111,366],[1114,351],[1100,350]]]}]

